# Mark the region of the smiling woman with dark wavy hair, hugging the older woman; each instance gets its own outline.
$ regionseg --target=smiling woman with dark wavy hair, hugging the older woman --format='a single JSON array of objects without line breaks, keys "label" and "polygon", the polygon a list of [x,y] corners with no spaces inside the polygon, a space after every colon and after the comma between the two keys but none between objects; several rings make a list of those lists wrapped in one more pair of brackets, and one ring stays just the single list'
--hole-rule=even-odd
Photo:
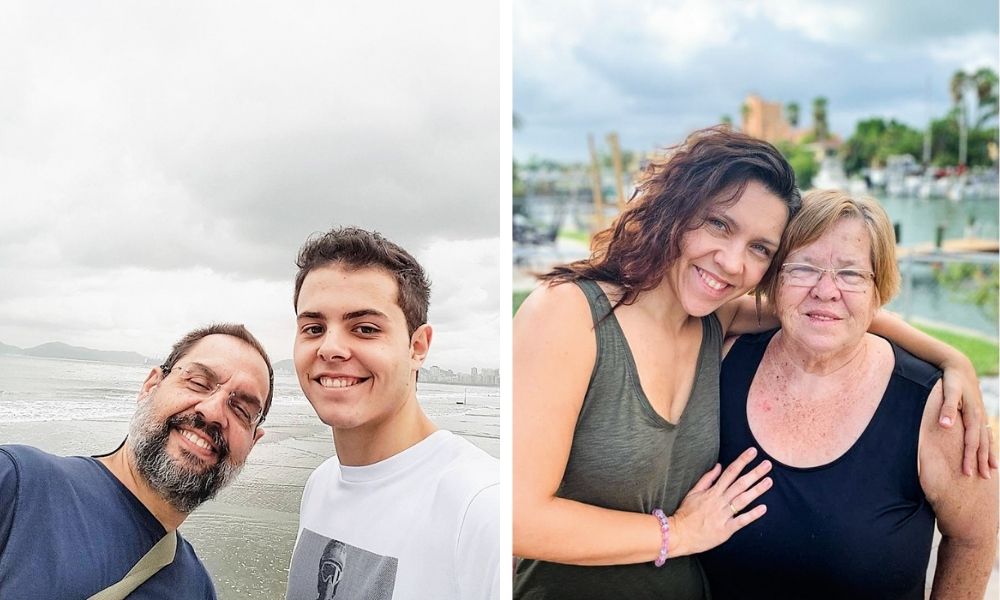
[{"label": "smiling woman with dark wavy hair, hugging the older woman", "polygon": [[[760,518],[764,505],[743,510],[771,486],[767,461],[741,474],[753,448],[716,464],[722,341],[776,323],[746,294],[775,276],[800,205],[772,145],[695,132],[645,169],[590,258],[525,300],[513,331],[516,598],[706,596],[694,555]],[[976,397],[964,356],[886,328]],[[983,410],[980,398],[965,413]]]}]

